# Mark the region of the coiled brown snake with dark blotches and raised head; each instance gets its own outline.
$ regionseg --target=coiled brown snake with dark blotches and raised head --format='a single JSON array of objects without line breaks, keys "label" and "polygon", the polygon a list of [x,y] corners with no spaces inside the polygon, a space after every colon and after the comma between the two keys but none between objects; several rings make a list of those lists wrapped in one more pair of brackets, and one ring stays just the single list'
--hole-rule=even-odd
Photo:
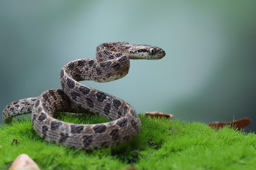
[{"label": "coiled brown snake with dark blotches and raised head", "polygon": [[[141,131],[141,120],[122,99],[81,84],[80,81],[110,82],[128,74],[130,59],[158,60],[165,51],[156,46],[106,42],[96,49],[96,59],[68,62],[61,68],[62,89],[49,89],[38,97],[20,99],[5,106],[5,124],[13,117],[31,113],[36,133],[53,144],[94,150],[131,141]],[[99,124],[74,124],[54,118],[56,112],[94,113],[110,121]]]}]

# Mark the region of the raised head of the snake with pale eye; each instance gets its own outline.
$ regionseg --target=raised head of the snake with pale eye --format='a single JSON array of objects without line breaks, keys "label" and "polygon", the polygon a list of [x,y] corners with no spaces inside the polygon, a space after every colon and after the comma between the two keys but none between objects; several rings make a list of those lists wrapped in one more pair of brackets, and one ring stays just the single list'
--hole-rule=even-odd
[{"label": "raised head of the snake with pale eye", "polygon": [[132,45],[128,50],[130,59],[159,60],[165,56],[165,51],[156,46]]}]

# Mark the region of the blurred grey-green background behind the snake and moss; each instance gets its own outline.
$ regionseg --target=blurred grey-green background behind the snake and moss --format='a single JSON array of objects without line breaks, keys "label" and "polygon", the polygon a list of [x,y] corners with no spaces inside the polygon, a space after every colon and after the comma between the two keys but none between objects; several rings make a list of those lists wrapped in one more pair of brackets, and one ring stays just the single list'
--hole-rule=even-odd
[{"label": "blurred grey-green background behind the snake and moss", "polygon": [[[83,82],[138,113],[231,121],[256,113],[256,1],[0,1],[0,109],[60,88],[61,67],[94,58],[98,44],[127,41],[166,51],[132,60],[109,83]],[[0,120],[2,124],[2,119]]]}]

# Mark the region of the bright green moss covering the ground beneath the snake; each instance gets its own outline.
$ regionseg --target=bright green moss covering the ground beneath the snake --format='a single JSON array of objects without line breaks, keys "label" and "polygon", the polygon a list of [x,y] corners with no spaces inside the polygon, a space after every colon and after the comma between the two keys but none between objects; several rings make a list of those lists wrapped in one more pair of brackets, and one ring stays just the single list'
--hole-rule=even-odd
[{"label": "bright green moss covering the ground beneath the snake", "polygon": [[[92,151],[50,144],[36,134],[30,119],[18,119],[0,126],[0,169],[8,169],[22,153],[34,159],[41,170],[119,170],[132,166],[139,170],[255,169],[254,133],[228,127],[217,131],[199,122],[139,117],[142,129],[136,139]],[[84,124],[108,121],[97,115],[58,115],[58,119]]]}]

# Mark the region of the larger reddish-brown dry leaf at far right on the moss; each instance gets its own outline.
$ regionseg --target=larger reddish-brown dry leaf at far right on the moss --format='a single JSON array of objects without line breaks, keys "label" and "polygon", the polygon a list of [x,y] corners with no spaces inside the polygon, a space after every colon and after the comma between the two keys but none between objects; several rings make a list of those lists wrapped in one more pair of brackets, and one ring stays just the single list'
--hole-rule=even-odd
[{"label": "larger reddish-brown dry leaf at far right on the moss", "polygon": [[246,117],[246,118],[242,118],[242,119],[238,119],[230,122],[215,121],[213,123],[208,124],[208,126],[219,129],[219,128],[222,128],[223,126],[230,125],[230,128],[236,127],[238,128],[238,130],[240,130],[241,128],[245,128],[246,126],[248,126],[250,123],[251,123],[251,119],[249,117]]}]

